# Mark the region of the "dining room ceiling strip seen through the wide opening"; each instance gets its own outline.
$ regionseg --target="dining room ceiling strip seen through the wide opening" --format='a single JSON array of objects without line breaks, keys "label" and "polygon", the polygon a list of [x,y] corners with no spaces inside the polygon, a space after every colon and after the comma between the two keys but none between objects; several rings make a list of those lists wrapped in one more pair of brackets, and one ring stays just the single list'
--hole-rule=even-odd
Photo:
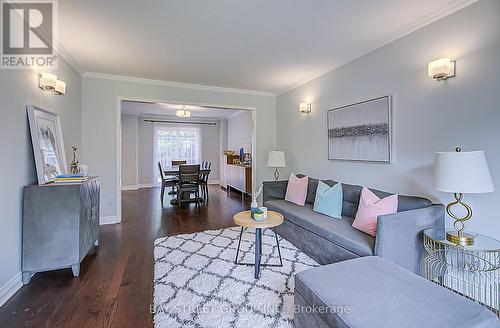
[{"label": "dining room ceiling strip seen through the wide opening", "polygon": [[179,109],[189,110],[194,118],[229,118],[240,113],[241,110],[229,108],[217,108],[195,105],[180,105],[167,103],[148,103],[136,101],[122,101],[122,114],[148,115],[148,116],[175,116]]}]

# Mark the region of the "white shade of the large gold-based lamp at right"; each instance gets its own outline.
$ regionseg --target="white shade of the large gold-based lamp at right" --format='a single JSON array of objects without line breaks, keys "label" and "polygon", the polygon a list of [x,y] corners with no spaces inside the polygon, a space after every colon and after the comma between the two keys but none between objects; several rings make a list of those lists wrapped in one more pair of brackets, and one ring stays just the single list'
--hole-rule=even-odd
[{"label": "white shade of the large gold-based lamp at right", "polygon": [[439,152],[434,162],[434,189],[450,193],[495,190],[483,151]]}]

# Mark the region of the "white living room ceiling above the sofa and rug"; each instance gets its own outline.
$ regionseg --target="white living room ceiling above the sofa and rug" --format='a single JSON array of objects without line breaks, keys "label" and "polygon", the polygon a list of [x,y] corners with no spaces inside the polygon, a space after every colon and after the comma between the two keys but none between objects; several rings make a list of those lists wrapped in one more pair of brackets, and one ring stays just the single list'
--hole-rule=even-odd
[{"label": "white living room ceiling above the sofa and rug", "polygon": [[82,72],[281,93],[475,0],[61,0]]}]

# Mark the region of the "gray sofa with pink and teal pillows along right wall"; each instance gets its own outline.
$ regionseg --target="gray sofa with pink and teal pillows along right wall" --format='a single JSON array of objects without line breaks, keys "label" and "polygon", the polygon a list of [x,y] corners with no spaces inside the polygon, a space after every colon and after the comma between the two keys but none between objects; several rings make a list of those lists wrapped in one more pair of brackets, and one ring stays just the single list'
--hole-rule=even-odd
[{"label": "gray sofa with pink and teal pillows along right wall", "polygon": [[[301,176],[301,175],[298,175]],[[330,186],[337,182],[322,180]],[[305,206],[284,200],[288,181],[264,182],[264,206],[282,213],[285,222],[276,231],[319,264],[330,264],[362,256],[378,255],[412,272],[421,274],[422,231],[444,228],[444,206],[428,199],[399,196],[398,213],[378,218],[377,237],[353,228],[362,186],[342,184],[342,219],[312,210],[317,179],[309,178]],[[389,193],[373,190],[377,196]]]}]

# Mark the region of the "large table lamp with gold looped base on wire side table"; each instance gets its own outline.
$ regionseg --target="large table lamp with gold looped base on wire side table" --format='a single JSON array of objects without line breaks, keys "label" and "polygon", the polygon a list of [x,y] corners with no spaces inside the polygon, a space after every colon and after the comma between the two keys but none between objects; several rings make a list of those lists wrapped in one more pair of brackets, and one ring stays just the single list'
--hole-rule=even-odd
[{"label": "large table lamp with gold looped base on wire side table", "polygon": [[[490,170],[483,151],[438,152],[434,161],[434,189],[453,193],[455,201],[446,206],[446,213],[452,217],[454,231],[446,232],[446,239],[459,245],[473,245],[474,234],[464,231],[465,222],[472,218],[472,208],[463,202],[463,194],[492,192]],[[462,205],[466,214],[453,213],[455,205]]]}]

